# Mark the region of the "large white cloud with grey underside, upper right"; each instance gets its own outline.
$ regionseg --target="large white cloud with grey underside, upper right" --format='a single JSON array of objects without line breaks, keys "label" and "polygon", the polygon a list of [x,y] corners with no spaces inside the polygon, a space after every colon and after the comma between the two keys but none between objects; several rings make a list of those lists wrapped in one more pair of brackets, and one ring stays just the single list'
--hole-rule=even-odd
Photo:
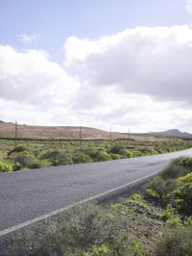
[{"label": "large white cloud with grey underside, upper right", "polygon": [[188,26],[136,27],[97,40],[72,37],[65,52],[65,66],[91,86],[192,102]]}]

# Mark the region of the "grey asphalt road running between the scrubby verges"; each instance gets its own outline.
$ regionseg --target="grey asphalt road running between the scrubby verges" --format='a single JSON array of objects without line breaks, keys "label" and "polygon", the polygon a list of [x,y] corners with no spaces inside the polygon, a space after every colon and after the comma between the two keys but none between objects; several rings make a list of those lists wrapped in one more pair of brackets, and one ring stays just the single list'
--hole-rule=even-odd
[{"label": "grey asphalt road running between the scrubby verges", "polygon": [[192,148],[169,154],[0,174],[0,231],[156,173]]}]

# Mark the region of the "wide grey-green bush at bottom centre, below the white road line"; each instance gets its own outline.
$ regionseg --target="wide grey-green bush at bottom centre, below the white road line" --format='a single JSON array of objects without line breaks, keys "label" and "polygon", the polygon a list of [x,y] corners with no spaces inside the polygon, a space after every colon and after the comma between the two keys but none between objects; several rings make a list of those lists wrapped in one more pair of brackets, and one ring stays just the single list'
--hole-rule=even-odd
[{"label": "wide grey-green bush at bottom centre, below the white road line", "polygon": [[146,255],[142,244],[130,238],[126,219],[96,205],[73,208],[30,232],[24,230],[8,250],[12,256]]}]

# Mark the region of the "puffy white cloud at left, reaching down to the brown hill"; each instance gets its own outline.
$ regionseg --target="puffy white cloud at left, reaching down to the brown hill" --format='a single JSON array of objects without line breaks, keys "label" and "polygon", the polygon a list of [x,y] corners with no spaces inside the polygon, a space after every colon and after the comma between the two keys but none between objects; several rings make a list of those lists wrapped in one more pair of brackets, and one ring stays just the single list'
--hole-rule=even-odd
[{"label": "puffy white cloud at left, reaching down to the brown hill", "polygon": [[[0,119],[21,123],[75,123],[70,108],[80,83],[46,52],[0,46]],[[76,122],[77,124],[77,122]]]}]

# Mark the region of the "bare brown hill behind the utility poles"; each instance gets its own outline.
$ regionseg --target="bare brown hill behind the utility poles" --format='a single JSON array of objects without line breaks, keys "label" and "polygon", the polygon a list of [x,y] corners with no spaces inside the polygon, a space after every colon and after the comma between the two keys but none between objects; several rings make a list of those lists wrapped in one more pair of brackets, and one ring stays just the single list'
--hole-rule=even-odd
[{"label": "bare brown hill behind the utility poles", "polygon": [[[0,138],[14,138],[15,126],[13,123],[0,123]],[[18,139],[40,139],[40,140],[80,140],[81,128],[79,126],[36,126],[19,124],[17,126]],[[128,133],[112,132],[112,139],[128,139]],[[83,140],[109,140],[108,131],[82,127]],[[131,140],[136,141],[161,141],[167,140],[144,136],[142,134],[131,134]]]}]

